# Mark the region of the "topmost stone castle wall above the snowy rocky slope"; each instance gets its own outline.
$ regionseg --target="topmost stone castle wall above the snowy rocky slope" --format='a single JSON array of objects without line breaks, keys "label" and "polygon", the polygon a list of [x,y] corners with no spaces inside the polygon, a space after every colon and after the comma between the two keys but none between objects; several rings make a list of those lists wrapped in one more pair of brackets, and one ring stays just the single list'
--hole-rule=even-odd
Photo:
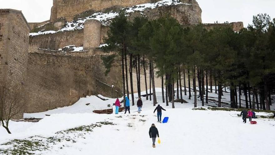
[{"label": "topmost stone castle wall above the snowy rocky slope", "polygon": [[72,21],[74,16],[87,10],[100,11],[113,6],[128,7],[159,0],[53,0],[51,21],[66,18]]}]

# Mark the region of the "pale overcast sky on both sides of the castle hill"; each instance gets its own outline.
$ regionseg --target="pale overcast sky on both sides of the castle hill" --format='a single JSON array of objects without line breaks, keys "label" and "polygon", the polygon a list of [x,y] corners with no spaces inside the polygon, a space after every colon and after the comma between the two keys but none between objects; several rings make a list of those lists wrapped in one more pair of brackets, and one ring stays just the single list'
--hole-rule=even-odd
[{"label": "pale overcast sky on both sides of the castle hill", "polygon": [[[197,0],[202,8],[202,22],[252,23],[252,16],[267,13],[275,18],[275,0]],[[28,22],[50,19],[53,0],[0,0],[0,8],[22,10]]]}]

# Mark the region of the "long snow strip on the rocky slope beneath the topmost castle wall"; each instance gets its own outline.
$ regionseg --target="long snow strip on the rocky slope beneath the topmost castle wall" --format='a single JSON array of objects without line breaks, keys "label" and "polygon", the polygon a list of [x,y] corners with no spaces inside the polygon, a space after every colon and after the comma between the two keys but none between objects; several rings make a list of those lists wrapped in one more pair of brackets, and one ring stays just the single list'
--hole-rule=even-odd
[{"label": "long snow strip on the rocky slope beneath the topmost castle wall", "polygon": [[[156,3],[145,3],[145,4],[140,4],[140,5],[135,5],[132,7],[127,7],[127,8],[122,8],[121,10],[126,10],[126,13],[132,13],[135,11],[140,12],[141,14],[142,11],[144,10],[149,10],[149,9],[154,9],[157,7],[162,7],[162,6],[173,6],[173,5],[178,5],[178,4],[184,4],[184,5],[191,5],[187,3],[182,3],[179,0],[162,0]],[[71,21],[67,22],[64,28],[58,30],[57,32],[63,32],[63,31],[72,31],[76,29],[83,29],[84,28],[84,22],[88,19],[96,19],[99,20],[103,25],[108,25],[110,22],[110,19],[115,18],[118,16],[119,11],[113,12],[110,11],[108,13],[93,13],[92,15],[85,17],[85,18],[79,18],[77,21]],[[35,35],[40,35],[40,34],[49,34],[49,33],[56,33],[55,31],[45,31],[45,32],[38,32],[38,33],[30,33],[30,36],[35,36]]]}]

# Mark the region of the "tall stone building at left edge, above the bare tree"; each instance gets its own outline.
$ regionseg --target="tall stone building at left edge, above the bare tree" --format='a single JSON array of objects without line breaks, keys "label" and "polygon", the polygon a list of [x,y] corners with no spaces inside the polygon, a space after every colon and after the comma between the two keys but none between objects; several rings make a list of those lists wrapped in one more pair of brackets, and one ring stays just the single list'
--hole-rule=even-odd
[{"label": "tall stone building at left edge, above the bare tree", "polygon": [[[30,28],[21,11],[0,9],[0,86],[24,86]],[[22,118],[22,114],[17,116]]]}]

